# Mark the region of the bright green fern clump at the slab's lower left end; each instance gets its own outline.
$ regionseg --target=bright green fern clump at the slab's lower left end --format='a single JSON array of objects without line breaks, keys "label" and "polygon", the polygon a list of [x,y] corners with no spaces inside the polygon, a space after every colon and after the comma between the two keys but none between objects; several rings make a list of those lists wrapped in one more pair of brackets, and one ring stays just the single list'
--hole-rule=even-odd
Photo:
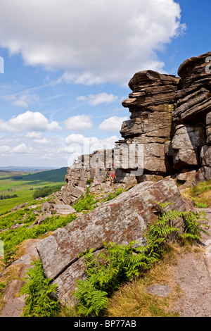
[{"label": "bright green fern clump at the slab's lower left end", "polygon": [[59,301],[53,299],[52,293],[56,292],[56,285],[51,284],[51,279],[44,277],[41,261],[32,262],[34,268],[28,270],[24,278],[25,285],[20,294],[27,294],[23,317],[53,317],[60,311]]}]

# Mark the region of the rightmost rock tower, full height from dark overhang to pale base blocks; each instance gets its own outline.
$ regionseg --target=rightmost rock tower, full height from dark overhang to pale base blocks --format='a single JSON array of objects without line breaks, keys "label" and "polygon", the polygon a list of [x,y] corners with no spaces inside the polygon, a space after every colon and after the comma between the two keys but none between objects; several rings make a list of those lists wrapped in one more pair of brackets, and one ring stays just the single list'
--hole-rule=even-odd
[{"label": "rightmost rock tower, full height from dark overhang to pale base blocks", "polygon": [[[181,79],[175,93],[176,108],[172,113],[172,124],[176,126],[172,139],[175,170],[198,170],[206,162],[203,158],[211,142],[211,75],[207,71],[209,56],[211,52],[188,58],[178,70]],[[202,175],[204,170],[203,167],[198,178],[207,178],[207,175]]]}]

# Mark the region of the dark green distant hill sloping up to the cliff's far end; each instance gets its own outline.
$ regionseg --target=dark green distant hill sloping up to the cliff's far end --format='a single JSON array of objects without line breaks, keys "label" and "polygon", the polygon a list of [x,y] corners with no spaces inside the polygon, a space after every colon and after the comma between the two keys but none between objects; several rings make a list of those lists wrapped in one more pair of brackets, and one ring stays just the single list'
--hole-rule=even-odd
[{"label": "dark green distant hill sloping up to the cliff's far end", "polygon": [[65,175],[67,173],[67,167],[41,171],[39,173],[29,173],[27,175],[13,176],[13,180],[34,181],[41,182],[65,182]]}]

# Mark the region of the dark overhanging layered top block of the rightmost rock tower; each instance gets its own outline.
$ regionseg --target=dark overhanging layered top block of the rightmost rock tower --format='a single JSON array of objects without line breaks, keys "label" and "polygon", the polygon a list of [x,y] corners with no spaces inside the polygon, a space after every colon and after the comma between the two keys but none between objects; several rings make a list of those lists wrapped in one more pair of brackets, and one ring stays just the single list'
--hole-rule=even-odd
[{"label": "dark overhanging layered top block of the rightmost rock tower", "polygon": [[207,72],[207,58],[211,52],[188,58],[181,63],[181,77],[175,94],[177,107],[172,114],[174,123],[197,123],[205,120],[211,110],[211,75]]}]

